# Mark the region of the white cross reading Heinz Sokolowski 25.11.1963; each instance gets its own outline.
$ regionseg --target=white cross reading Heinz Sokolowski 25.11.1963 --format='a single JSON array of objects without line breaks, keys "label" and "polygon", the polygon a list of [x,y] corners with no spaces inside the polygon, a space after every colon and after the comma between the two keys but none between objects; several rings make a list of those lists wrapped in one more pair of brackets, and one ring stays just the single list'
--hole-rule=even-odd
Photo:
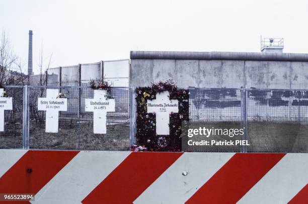
[{"label": "white cross reading Heinz Sokolowski 25.11.1963", "polygon": [[46,89],[46,97],[38,98],[37,109],[46,111],[46,133],[57,133],[59,111],[67,111],[67,98],[57,98],[58,89]]}]

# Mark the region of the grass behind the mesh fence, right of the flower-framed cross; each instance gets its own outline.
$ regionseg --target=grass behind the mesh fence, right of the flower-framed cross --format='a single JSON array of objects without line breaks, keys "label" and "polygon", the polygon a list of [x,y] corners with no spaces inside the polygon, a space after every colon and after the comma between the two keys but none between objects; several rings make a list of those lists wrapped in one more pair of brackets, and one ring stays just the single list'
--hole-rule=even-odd
[{"label": "grass behind the mesh fence, right of the flower-framed cross", "polygon": [[[217,128],[217,129],[241,129],[240,122],[198,122],[189,128]],[[247,146],[248,152],[308,152],[308,125],[300,125],[296,122],[257,122],[248,123]],[[186,136],[187,137],[187,136]],[[197,138],[194,141],[204,140],[241,140],[241,136],[210,136],[209,138]],[[183,140],[183,143],[187,143]],[[240,146],[189,146],[188,151],[197,152],[239,152]],[[183,149],[185,149],[183,148]]]}]

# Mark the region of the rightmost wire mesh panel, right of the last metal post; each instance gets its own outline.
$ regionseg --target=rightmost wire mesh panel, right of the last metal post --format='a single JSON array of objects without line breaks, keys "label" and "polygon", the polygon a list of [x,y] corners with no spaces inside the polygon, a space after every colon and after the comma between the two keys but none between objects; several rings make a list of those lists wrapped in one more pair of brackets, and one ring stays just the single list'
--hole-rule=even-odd
[{"label": "rightmost wire mesh panel, right of the last metal post", "polygon": [[248,152],[307,152],[303,96],[296,90],[248,90]]}]

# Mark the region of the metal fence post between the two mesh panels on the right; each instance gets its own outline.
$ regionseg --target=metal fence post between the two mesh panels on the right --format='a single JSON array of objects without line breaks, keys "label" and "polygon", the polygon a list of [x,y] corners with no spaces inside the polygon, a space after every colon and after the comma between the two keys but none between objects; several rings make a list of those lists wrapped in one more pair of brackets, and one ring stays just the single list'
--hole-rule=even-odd
[{"label": "metal fence post between the two mesh panels on the right", "polygon": [[[243,88],[241,89],[242,100],[241,100],[241,121],[242,127],[245,129],[244,135],[242,136],[242,140],[247,140],[248,129],[247,129],[247,100],[248,100],[248,91]],[[241,152],[247,152],[247,146],[241,146]]]}]

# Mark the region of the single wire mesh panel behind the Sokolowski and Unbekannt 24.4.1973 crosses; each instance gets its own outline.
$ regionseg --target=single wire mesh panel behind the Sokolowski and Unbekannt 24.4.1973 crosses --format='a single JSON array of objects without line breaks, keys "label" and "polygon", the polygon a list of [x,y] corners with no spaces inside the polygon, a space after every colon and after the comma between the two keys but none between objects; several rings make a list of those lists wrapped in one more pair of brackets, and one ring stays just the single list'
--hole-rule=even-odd
[{"label": "single wire mesh panel behind the Sokolowski and Unbekannt 24.4.1973 crosses", "polygon": [[[38,97],[46,97],[46,88],[29,87],[30,148],[128,150],[129,148],[129,89],[112,88],[115,112],[107,113],[106,134],[94,134],[93,112],[85,112],[85,99],[93,98],[89,87],[54,87],[66,95],[67,111],[58,117],[58,132],[46,132],[46,111],[38,111]],[[56,123],[56,120],[54,120]],[[104,125],[104,124],[102,124]]]}]

